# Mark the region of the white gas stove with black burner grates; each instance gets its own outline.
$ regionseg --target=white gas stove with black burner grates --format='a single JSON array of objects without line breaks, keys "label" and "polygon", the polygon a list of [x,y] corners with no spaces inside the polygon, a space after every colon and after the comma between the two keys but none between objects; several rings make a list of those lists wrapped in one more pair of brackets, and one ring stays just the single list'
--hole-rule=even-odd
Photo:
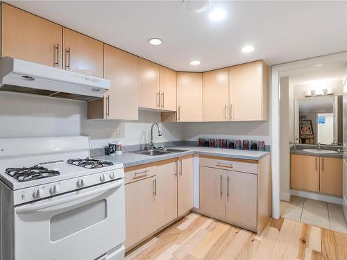
[{"label": "white gas stove with black burner grates", "polygon": [[124,168],[89,137],[0,139],[1,259],[124,259]]}]

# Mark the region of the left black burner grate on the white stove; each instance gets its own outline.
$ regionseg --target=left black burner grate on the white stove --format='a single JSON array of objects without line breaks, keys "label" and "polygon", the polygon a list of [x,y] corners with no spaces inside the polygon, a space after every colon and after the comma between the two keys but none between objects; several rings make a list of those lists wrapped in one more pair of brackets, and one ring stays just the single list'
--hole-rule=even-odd
[{"label": "left black burner grate on the white stove", "polygon": [[58,171],[49,170],[38,165],[23,168],[7,168],[6,173],[14,177],[18,182],[28,182],[29,180],[43,179],[60,174]]}]

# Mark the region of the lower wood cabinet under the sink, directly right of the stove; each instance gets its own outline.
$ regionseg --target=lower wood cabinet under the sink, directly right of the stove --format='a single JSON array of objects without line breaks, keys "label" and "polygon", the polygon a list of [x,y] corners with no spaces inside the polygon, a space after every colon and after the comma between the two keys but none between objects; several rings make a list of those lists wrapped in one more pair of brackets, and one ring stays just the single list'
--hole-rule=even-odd
[{"label": "lower wood cabinet under the sink, directly right of the stove", "polygon": [[[125,171],[126,250],[193,207],[193,157],[133,166]],[[180,215],[181,215],[180,214]]]}]

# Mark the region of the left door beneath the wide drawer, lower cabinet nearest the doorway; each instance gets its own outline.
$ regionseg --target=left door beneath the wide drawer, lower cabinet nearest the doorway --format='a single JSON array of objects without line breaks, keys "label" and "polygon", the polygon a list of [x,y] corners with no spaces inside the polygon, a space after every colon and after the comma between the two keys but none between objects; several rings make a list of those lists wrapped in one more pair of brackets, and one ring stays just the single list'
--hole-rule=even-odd
[{"label": "left door beneath the wide drawer, lower cabinet nearest the doorway", "polygon": [[226,171],[200,166],[200,208],[212,218],[226,218]]}]

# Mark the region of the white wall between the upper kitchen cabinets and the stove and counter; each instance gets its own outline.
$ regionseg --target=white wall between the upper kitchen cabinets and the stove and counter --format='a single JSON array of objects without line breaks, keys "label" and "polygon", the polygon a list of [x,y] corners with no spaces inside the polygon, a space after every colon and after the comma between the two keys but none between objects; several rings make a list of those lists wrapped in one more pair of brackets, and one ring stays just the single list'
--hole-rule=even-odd
[{"label": "white wall between the upper kitchen cabinets and the stove and counter", "polygon": [[[0,92],[0,138],[88,135],[92,148],[116,139],[123,145],[144,144],[151,123],[160,113],[139,111],[139,121],[87,120],[87,103],[63,98]],[[163,135],[156,142],[199,137],[257,139],[270,144],[269,122],[160,123]],[[117,137],[117,129],[121,135]]]}]

